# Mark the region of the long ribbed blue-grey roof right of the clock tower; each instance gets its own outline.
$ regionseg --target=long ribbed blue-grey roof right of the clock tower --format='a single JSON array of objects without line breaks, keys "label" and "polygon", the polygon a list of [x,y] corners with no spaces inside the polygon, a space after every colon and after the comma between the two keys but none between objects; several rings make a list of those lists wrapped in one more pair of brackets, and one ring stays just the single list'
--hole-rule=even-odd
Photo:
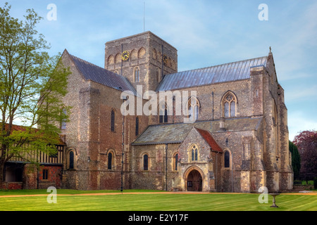
[{"label": "long ribbed blue-grey roof right of the clock tower", "polygon": [[249,79],[250,68],[259,65],[266,66],[267,59],[268,56],[263,56],[234,63],[215,65],[209,68],[187,70],[166,75],[156,91],[185,89],[192,86],[204,86],[208,84]]}]

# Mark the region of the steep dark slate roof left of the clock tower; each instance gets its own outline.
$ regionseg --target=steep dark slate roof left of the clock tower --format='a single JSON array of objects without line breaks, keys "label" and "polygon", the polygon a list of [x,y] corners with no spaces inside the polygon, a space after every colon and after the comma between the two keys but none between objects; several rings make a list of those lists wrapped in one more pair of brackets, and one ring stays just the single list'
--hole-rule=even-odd
[{"label": "steep dark slate roof left of the clock tower", "polygon": [[[66,53],[68,53],[67,50],[65,51]],[[92,63],[89,63],[85,60],[82,60],[81,58],[72,56],[70,55],[70,53],[68,53],[68,55],[70,56],[71,60],[73,60],[76,68],[80,70],[86,80],[92,80],[99,84],[103,84],[105,86],[109,86],[120,91],[132,91],[133,94],[137,94],[137,91],[135,91],[135,88],[132,86],[127,78]]]}]

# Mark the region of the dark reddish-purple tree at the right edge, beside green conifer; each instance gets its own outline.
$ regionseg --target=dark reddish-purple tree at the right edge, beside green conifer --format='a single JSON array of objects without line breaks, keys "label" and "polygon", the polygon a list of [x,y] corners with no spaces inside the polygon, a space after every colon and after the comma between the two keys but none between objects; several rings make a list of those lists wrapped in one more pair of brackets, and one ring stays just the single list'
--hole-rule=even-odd
[{"label": "dark reddish-purple tree at the right edge, beside green conifer", "polygon": [[306,181],[317,177],[317,131],[302,131],[293,142],[302,160],[301,176]]}]

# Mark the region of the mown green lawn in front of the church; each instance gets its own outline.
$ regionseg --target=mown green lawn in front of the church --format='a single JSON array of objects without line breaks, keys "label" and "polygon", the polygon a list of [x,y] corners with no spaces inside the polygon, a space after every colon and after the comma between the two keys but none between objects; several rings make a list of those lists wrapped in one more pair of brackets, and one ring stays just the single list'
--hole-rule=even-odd
[{"label": "mown green lawn in front of the church", "polygon": [[[120,191],[57,190],[58,194],[120,193]],[[128,192],[135,192],[128,194]],[[0,198],[0,211],[317,211],[317,195],[278,195],[260,204],[259,194],[169,194],[137,193],[129,190],[118,195],[68,195],[57,196],[57,203],[47,203],[46,190],[0,191],[0,195],[45,194],[35,197]],[[149,192],[149,190],[147,190]]]}]

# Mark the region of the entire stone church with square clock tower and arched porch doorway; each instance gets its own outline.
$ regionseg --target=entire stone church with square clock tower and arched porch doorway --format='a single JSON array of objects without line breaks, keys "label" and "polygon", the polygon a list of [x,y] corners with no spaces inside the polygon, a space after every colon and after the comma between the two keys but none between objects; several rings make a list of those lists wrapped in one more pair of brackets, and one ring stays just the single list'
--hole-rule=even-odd
[{"label": "entire stone church with square clock tower and arched porch doorway", "polygon": [[[268,56],[178,72],[177,49],[143,32],[106,42],[104,68],[67,50],[61,62],[72,72],[63,98],[71,109],[69,122],[61,124],[61,188],[293,188],[287,108],[271,50]],[[157,113],[139,113],[136,106],[133,115],[123,115],[127,91],[135,105],[149,102],[146,91],[188,91],[182,107],[189,114],[176,115],[174,96],[169,105],[156,99],[151,110]],[[197,94],[190,96],[192,91]]]}]

